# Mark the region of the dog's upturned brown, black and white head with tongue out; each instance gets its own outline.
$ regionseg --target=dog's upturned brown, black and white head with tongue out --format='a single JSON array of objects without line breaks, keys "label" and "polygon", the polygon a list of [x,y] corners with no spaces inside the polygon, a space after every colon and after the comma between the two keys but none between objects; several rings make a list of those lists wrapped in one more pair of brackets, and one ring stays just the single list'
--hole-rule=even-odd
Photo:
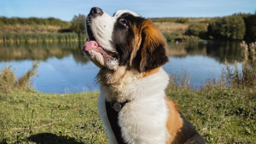
[{"label": "dog's upturned brown, black and white head with tongue out", "polygon": [[113,16],[92,8],[86,18],[88,42],[84,52],[96,66],[116,71],[119,66],[147,72],[164,65],[166,40],[151,20],[129,10]]}]

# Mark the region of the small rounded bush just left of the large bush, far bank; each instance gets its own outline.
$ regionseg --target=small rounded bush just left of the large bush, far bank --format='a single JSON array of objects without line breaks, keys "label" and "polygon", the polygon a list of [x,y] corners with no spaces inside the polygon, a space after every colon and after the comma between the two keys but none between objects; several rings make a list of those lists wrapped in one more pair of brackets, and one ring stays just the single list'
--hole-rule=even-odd
[{"label": "small rounded bush just left of the large bush, far bank", "polygon": [[207,32],[207,30],[205,29],[205,27],[203,25],[192,24],[192,25],[189,25],[186,35],[196,36],[196,37],[205,37],[206,32]]}]

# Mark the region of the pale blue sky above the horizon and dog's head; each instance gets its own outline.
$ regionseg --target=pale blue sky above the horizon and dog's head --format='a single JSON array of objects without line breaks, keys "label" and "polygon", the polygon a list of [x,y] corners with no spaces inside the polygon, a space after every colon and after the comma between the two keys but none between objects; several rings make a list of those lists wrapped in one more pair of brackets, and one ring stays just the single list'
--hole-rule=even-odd
[{"label": "pale blue sky above the horizon and dog's head", "polygon": [[256,0],[0,0],[0,16],[55,17],[70,21],[99,7],[112,15],[129,9],[146,18],[215,17],[256,11]]}]

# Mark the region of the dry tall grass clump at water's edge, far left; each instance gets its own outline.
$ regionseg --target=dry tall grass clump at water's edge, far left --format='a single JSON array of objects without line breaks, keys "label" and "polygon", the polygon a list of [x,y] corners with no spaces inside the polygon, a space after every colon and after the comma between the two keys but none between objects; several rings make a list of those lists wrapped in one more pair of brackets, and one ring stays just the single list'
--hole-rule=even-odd
[{"label": "dry tall grass clump at water's edge, far left", "polygon": [[32,86],[30,78],[38,75],[38,61],[32,63],[32,68],[20,78],[15,77],[15,72],[11,70],[11,65],[3,65],[0,72],[0,92],[7,93],[14,89],[27,89]]}]

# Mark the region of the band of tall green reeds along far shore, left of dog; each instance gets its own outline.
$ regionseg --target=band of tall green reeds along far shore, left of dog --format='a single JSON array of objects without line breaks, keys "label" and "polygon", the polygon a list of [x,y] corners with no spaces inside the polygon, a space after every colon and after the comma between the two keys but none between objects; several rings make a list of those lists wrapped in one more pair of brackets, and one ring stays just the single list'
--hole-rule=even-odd
[{"label": "band of tall green reeds along far shore, left of dog", "polygon": [[38,42],[70,42],[85,41],[86,35],[79,35],[74,32],[67,33],[2,33],[0,34],[0,43],[38,43]]}]

